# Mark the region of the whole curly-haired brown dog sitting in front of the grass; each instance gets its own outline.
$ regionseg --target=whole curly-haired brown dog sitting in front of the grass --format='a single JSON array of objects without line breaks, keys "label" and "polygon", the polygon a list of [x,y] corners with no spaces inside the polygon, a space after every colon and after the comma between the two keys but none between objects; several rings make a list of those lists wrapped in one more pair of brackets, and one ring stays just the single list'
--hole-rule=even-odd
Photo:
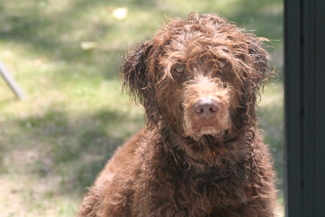
[{"label": "whole curly-haired brown dog sitting in front of the grass", "polygon": [[256,126],[272,74],[263,41],[190,14],[131,49],[121,74],[148,122],[108,162],[79,216],[274,216],[275,174]]}]

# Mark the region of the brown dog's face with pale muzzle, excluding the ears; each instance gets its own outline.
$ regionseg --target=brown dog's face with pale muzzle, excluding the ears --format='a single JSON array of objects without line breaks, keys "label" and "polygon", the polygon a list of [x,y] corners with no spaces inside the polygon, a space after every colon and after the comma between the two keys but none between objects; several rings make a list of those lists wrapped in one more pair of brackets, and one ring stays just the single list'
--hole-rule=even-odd
[{"label": "brown dog's face with pale muzzle, excluding the ears", "polygon": [[163,118],[173,117],[186,136],[216,135],[231,128],[230,111],[239,106],[234,73],[226,51],[205,34],[188,34],[164,47],[157,98],[166,104]]}]

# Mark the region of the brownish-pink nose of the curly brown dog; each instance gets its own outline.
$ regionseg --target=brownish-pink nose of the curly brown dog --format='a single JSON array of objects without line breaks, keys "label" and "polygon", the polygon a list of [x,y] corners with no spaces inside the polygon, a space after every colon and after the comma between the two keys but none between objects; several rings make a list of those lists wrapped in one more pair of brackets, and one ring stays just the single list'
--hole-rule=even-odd
[{"label": "brownish-pink nose of the curly brown dog", "polygon": [[218,103],[213,99],[202,99],[195,103],[195,113],[203,119],[210,119],[216,116],[219,110]]}]

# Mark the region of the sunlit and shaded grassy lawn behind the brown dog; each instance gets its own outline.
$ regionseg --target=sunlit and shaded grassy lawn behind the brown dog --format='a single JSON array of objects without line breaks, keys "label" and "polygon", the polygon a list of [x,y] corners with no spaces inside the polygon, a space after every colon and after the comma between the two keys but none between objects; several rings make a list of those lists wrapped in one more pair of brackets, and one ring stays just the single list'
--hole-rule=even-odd
[{"label": "sunlit and shaded grassy lawn behind the brown dog", "polygon": [[[125,20],[114,19],[117,7],[128,9]],[[0,60],[26,94],[18,101],[0,78],[1,216],[75,215],[116,146],[144,123],[143,110],[121,92],[125,51],[165,17],[192,11],[272,40],[279,79],[259,114],[282,188],[282,1],[0,0]]]}]

